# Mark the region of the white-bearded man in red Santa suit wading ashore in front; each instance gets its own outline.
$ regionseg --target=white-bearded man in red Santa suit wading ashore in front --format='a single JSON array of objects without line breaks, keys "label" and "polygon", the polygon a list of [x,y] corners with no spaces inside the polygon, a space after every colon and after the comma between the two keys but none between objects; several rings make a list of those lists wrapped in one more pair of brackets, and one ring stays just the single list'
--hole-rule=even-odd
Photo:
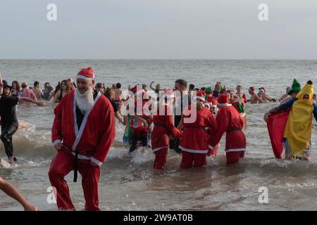
[{"label": "white-bearded man in red Santa suit wading ashore in front", "polygon": [[77,89],[63,97],[55,108],[51,140],[57,150],[49,179],[56,188],[58,210],[75,210],[64,177],[74,170],[82,175],[85,210],[99,210],[100,166],[116,135],[113,108],[100,92],[93,94],[92,68],[80,70]]}]

